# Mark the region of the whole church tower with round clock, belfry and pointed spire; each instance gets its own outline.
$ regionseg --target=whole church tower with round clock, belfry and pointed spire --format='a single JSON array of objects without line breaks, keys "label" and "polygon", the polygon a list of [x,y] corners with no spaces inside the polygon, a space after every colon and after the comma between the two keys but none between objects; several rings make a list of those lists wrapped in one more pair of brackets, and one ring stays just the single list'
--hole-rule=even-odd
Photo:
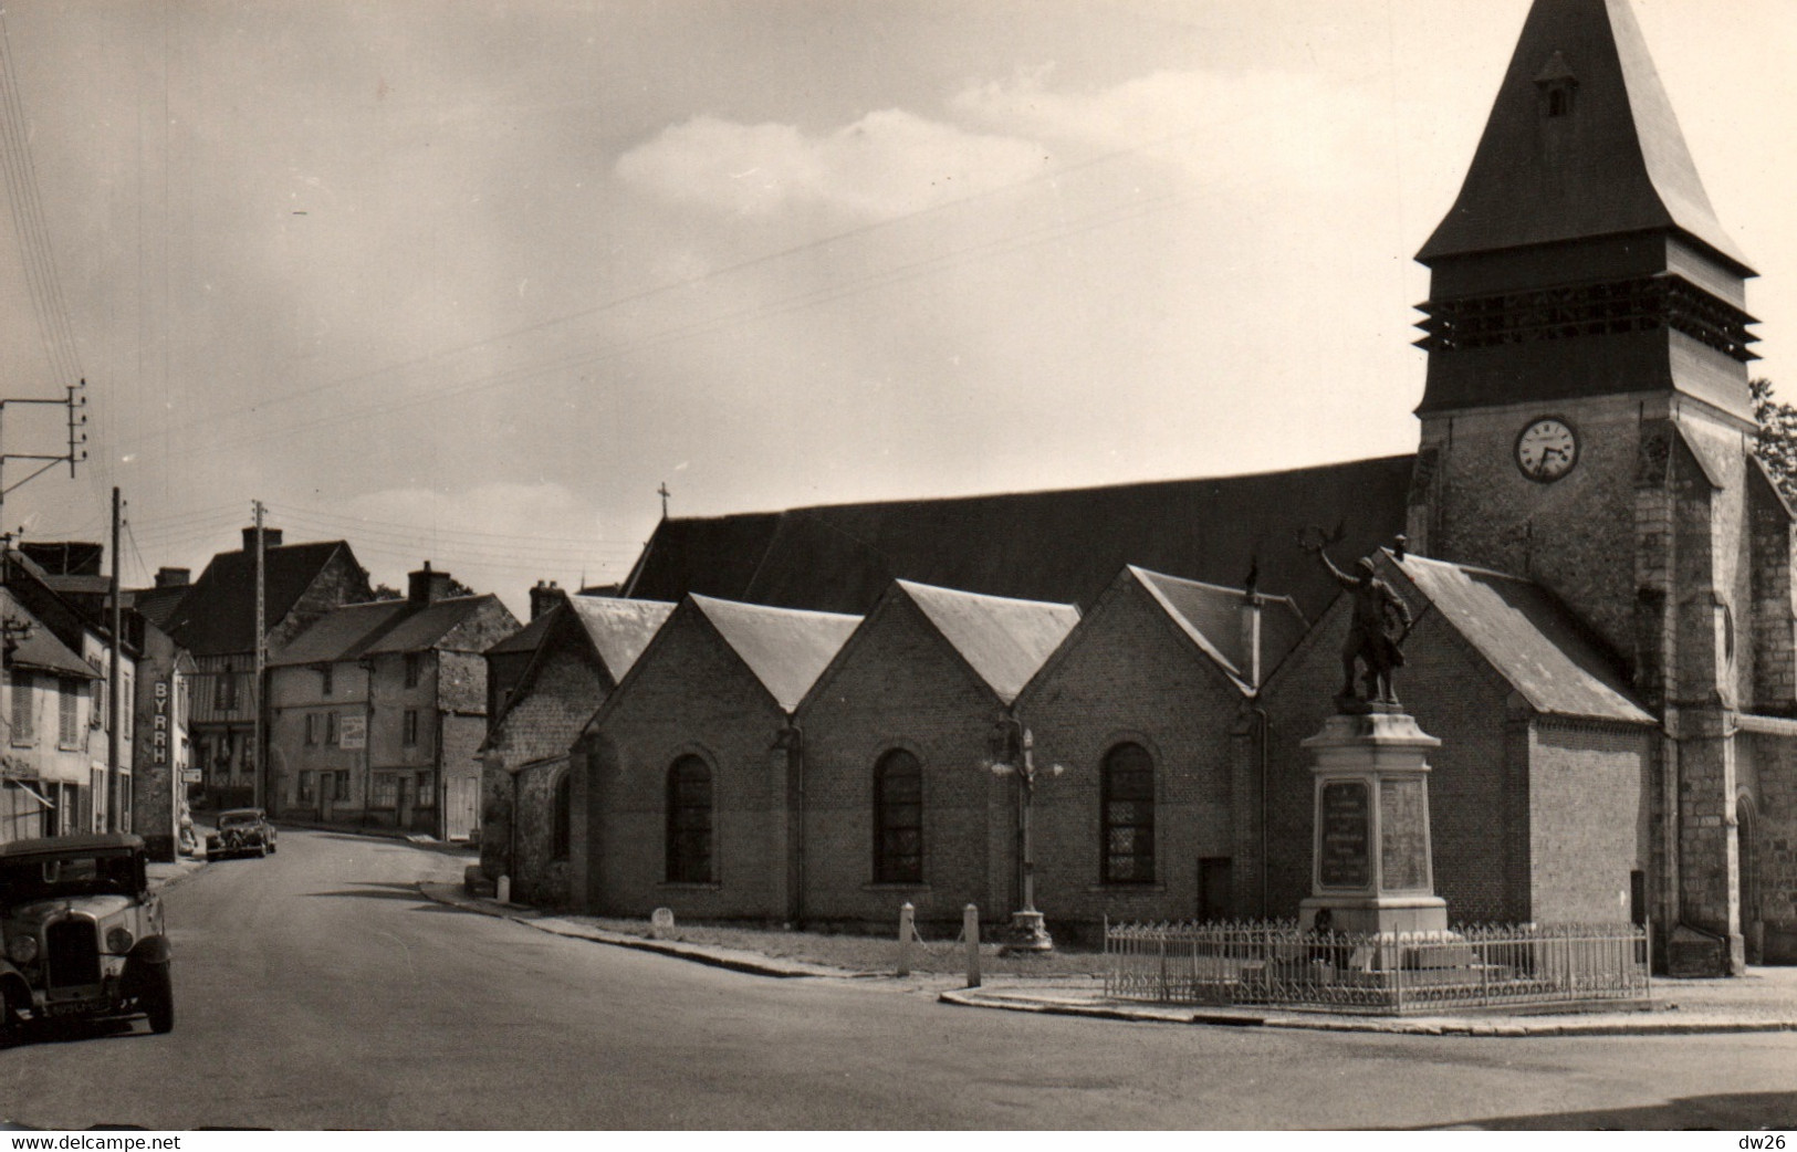
[{"label": "whole church tower with round clock, belfry and pointed spire", "polygon": [[1797,712],[1792,518],[1752,455],[1756,273],[1628,0],[1535,2],[1416,259],[1411,546],[1535,579],[1628,661],[1669,737],[1655,902],[1739,954],[1732,733]]}]

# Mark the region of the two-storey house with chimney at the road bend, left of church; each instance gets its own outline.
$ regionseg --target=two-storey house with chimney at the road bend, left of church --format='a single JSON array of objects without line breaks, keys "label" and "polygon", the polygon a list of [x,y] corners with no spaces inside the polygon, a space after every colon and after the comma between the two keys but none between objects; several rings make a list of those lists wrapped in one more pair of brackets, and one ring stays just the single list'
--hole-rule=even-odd
[{"label": "two-storey house with chimney at the road bend, left of church", "polygon": [[336,607],[268,661],[275,816],[469,839],[487,731],[482,658],[518,620],[494,595],[410,573],[403,600]]}]

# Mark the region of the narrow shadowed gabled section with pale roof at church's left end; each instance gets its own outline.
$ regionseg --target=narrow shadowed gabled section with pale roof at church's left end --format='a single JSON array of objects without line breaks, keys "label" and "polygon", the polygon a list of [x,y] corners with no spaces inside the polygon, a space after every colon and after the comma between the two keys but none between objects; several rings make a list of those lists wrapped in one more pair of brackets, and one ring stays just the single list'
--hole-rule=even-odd
[{"label": "narrow shadowed gabled section with pale roof at church's left end", "polygon": [[[507,656],[530,645],[530,660],[496,694],[500,703],[482,744],[480,859],[489,879],[510,877],[514,900],[562,906],[573,834],[568,748],[674,606],[570,597],[539,584],[532,609],[543,611],[487,651],[492,696]],[[519,640],[527,633],[528,640]]]}]

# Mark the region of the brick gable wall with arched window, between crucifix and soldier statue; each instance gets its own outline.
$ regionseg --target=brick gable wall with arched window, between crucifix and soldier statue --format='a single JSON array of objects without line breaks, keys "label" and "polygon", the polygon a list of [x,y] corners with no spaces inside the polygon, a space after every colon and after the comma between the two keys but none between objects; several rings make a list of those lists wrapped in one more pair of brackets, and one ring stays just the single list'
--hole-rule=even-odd
[{"label": "brick gable wall with arched window, between crucifix and soldier statue", "polygon": [[[1229,859],[1233,890],[1217,911],[1258,913],[1258,859],[1240,859],[1236,843],[1236,821],[1253,820],[1235,805],[1227,739],[1242,708],[1242,690],[1134,577],[1093,606],[1017,701],[1037,762],[1066,766],[1035,802],[1037,908],[1051,924],[1195,917],[1202,857]],[[1152,884],[1103,882],[1102,767],[1123,742],[1155,766]]]}]

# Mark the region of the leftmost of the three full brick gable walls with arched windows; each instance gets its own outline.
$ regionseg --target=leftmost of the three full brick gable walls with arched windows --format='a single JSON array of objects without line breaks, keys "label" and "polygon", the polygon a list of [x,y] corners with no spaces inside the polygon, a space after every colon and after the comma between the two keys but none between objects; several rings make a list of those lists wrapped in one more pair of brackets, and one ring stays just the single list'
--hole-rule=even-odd
[{"label": "leftmost of the three full brick gable walls with arched windows", "polygon": [[[624,917],[667,906],[701,920],[785,918],[785,861],[776,850],[783,846],[785,785],[775,767],[783,757],[773,751],[783,722],[699,609],[685,604],[668,616],[602,710],[586,758],[586,908]],[[688,753],[712,769],[710,884],[667,882],[667,775]]]}]

